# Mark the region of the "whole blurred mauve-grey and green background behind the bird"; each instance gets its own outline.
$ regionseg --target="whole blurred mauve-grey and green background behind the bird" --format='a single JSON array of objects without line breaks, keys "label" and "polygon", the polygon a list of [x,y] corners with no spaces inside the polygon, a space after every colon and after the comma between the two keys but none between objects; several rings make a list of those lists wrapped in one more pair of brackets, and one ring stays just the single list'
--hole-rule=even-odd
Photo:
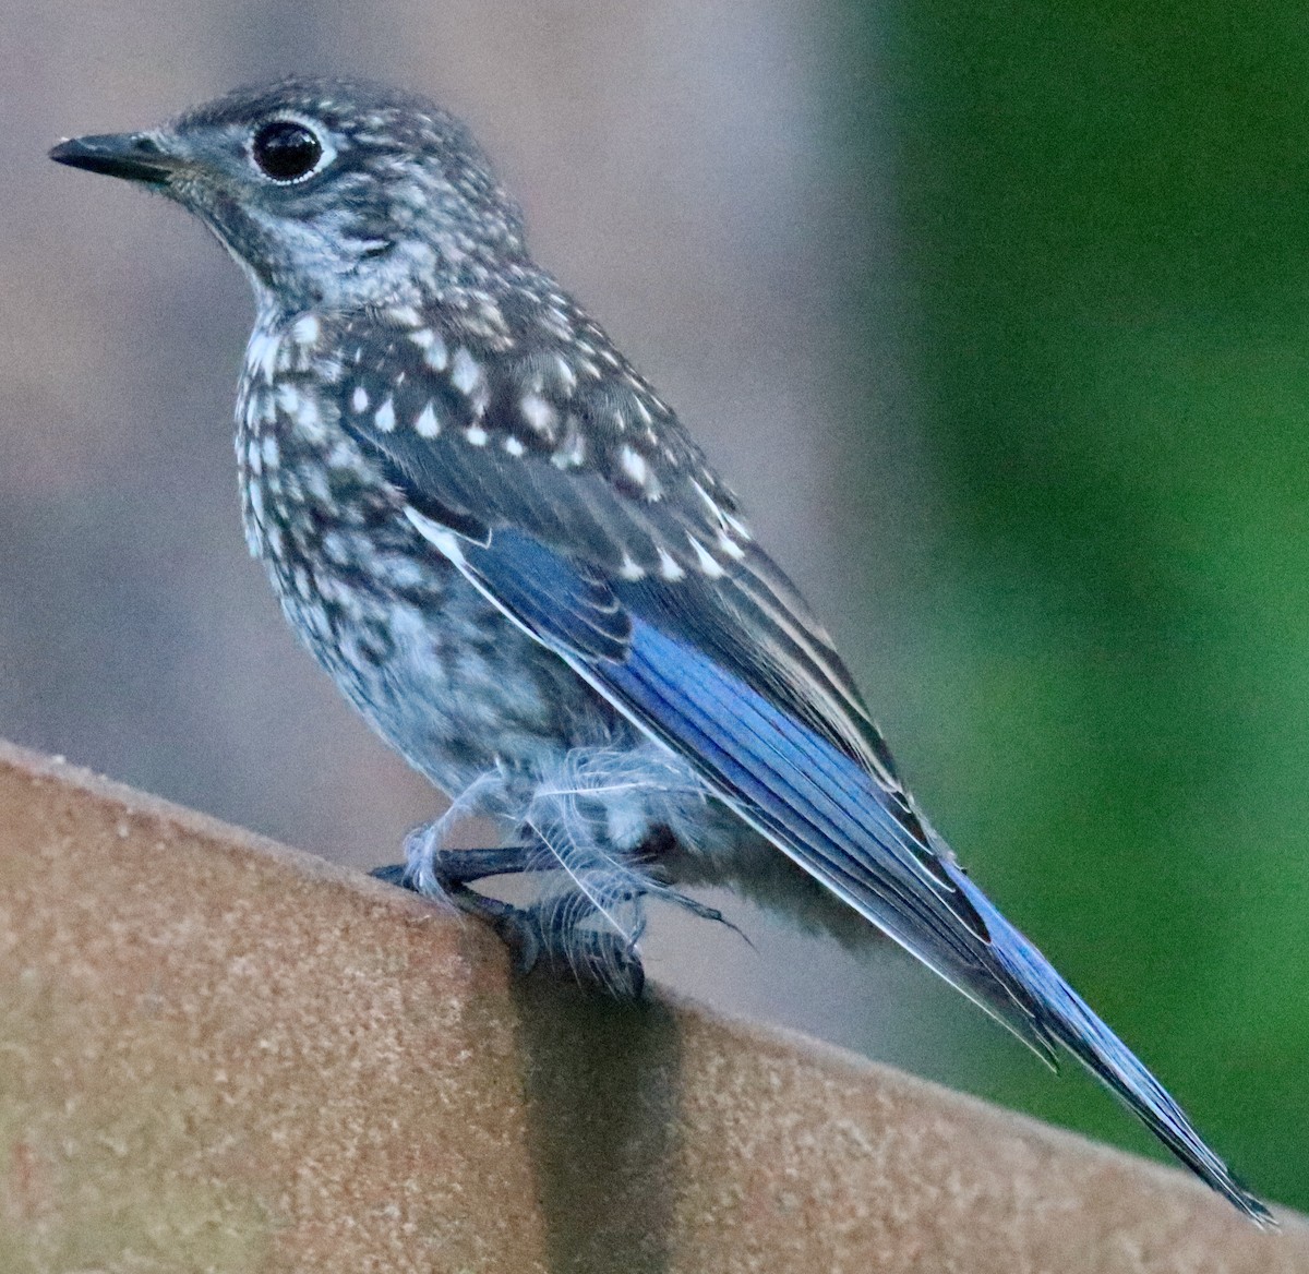
[{"label": "whole blurred mauve-grey and green background behind the bird", "polygon": [[[374,865],[441,803],[245,556],[246,284],[162,200],[45,158],[293,69],[470,119],[975,879],[1309,1207],[1301,7],[9,0],[0,735]],[[753,949],[668,915],[652,970],[1155,1152],[894,951],[730,910]]]}]

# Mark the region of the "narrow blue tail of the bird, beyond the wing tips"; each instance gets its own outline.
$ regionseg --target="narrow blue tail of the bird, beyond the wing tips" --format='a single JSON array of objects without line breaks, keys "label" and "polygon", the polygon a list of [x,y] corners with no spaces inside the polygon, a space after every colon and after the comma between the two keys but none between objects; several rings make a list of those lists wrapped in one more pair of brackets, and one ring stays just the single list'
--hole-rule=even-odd
[{"label": "narrow blue tail of the bird, beyond the wing tips", "polygon": [[1206,1144],[1186,1112],[1140,1058],[1096,1016],[1050,961],[996,910],[962,871],[952,863],[946,863],[946,871],[986,920],[992,953],[1039,1007],[1042,1016],[1038,1029],[1068,1049],[1206,1185],[1230,1199],[1257,1224],[1276,1226],[1268,1209]]}]

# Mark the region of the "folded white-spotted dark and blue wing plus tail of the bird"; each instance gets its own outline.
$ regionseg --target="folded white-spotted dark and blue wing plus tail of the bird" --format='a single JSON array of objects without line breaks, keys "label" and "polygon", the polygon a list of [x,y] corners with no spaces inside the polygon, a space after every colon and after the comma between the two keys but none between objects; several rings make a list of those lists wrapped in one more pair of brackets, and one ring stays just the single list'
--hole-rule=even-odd
[{"label": "folded white-spotted dark and blue wing plus tail of the bird", "polygon": [[[425,369],[397,378],[415,350]],[[919,817],[830,640],[643,382],[588,397],[576,372],[500,384],[492,360],[428,352],[408,334],[361,355],[343,423],[433,549],[822,884],[1266,1216]]]}]

